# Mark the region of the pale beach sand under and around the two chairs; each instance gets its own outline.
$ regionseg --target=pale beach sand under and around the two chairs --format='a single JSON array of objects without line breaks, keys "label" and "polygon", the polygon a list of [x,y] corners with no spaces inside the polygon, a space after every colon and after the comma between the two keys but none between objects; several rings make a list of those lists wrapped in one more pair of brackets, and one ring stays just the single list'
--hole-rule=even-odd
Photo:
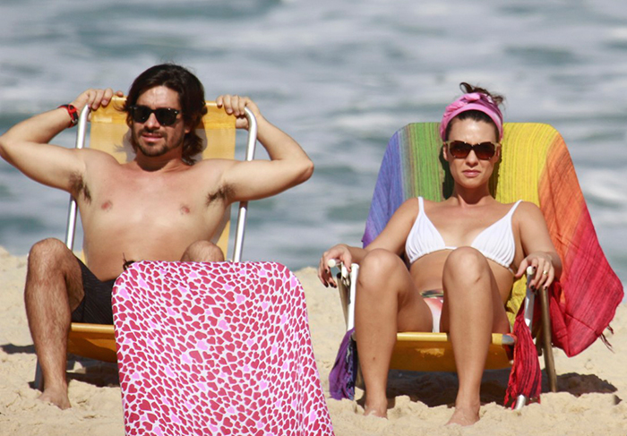
[{"label": "pale beach sand under and around the two chairs", "polygon": [[[73,407],[59,410],[41,403],[32,389],[35,352],[23,304],[26,258],[0,248],[0,434],[124,434],[115,365],[86,359],[71,361],[69,396]],[[305,287],[314,353],[328,396],[328,375],[344,321],[337,291],[324,288],[312,268],[296,272]],[[457,380],[449,373],[391,372],[389,419],[364,417],[360,401],[327,404],[338,436],[348,435],[627,435],[627,306],[618,308],[614,333],[578,356],[555,350],[558,392],[544,393],[541,404],[521,412],[502,406],[508,372],[486,372],[481,421],[468,428],[443,427],[451,416]],[[543,392],[547,391],[546,382]],[[356,398],[363,392],[357,389]]]}]

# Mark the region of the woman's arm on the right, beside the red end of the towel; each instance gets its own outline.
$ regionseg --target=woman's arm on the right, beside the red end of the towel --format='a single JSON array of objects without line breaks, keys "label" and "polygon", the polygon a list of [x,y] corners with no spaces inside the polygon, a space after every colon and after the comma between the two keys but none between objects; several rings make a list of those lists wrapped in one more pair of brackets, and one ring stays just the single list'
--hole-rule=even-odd
[{"label": "woman's arm on the right, beside the red end of the towel", "polygon": [[536,275],[530,285],[536,289],[548,287],[562,275],[562,260],[551,241],[542,211],[535,204],[525,201],[520,204],[520,212],[520,243],[526,257],[520,262],[516,278],[522,277],[531,266],[536,269]]}]

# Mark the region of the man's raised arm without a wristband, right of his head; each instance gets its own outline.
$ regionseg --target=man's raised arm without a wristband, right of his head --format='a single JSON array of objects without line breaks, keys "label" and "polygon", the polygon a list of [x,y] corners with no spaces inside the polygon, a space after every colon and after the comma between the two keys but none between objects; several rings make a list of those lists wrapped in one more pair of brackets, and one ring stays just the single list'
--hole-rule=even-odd
[{"label": "man's raised arm without a wristband, right of his head", "polygon": [[218,107],[238,117],[237,128],[248,128],[244,108],[257,118],[257,139],[271,160],[234,162],[222,175],[222,183],[229,187],[232,201],[256,200],[283,192],[302,184],[314,173],[314,163],[287,133],[268,122],[253,100],[224,95],[216,98]]}]

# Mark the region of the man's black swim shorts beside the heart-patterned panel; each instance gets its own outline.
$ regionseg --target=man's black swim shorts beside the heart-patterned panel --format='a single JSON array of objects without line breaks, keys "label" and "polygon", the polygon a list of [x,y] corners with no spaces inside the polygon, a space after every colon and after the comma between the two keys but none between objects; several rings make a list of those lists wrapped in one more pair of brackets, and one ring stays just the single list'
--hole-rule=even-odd
[{"label": "man's black swim shorts beside the heart-patterned panel", "polygon": [[82,290],[85,296],[82,302],[72,312],[73,322],[87,322],[90,324],[113,324],[111,309],[111,293],[116,278],[102,282],[93,275],[82,261],[79,262],[82,272]]}]

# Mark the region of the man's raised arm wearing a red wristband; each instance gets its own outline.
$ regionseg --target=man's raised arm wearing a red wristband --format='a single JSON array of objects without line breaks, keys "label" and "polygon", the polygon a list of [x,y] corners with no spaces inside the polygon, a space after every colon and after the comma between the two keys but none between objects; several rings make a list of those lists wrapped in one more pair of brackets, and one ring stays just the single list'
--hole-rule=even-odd
[{"label": "man's raised arm wearing a red wristband", "polygon": [[[78,115],[88,105],[92,109],[107,106],[112,97],[110,89],[86,90],[71,106]],[[0,156],[31,179],[70,191],[72,176],[84,173],[84,162],[76,150],[48,142],[72,125],[71,112],[67,107],[58,107],[15,124],[0,136]]]}]

